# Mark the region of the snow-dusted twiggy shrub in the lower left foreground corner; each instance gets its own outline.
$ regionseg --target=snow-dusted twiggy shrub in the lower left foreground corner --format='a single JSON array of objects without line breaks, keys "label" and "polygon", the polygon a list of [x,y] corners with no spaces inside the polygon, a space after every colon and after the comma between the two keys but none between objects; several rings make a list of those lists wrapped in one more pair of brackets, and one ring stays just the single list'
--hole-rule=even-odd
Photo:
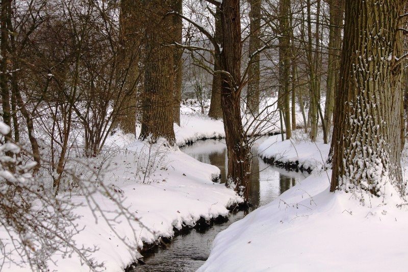
[{"label": "snow-dusted twiggy shrub in the lower left foreground corner", "polygon": [[[2,133],[7,133],[4,123],[0,125]],[[0,265],[29,264],[33,270],[45,271],[50,256],[58,252],[63,257],[76,253],[96,269],[98,264],[91,258],[95,249],[79,248],[73,242],[81,230],[74,223],[78,216],[72,203],[55,197],[32,176],[35,163],[23,164],[6,152],[18,154],[20,147],[12,142],[0,145],[0,251],[5,260]]]}]

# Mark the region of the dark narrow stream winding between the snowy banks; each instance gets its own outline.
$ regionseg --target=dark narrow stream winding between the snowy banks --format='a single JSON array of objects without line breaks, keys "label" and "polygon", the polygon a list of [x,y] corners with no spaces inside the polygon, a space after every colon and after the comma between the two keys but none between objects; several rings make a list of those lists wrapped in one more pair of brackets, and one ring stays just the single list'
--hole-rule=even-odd
[{"label": "dark narrow stream winding between the snowy banks", "polygon": [[[227,161],[224,140],[198,141],[184,147],[183,151],[201,162],[218,166],[221,170],[221,182],[225,182]],[[210,255],[211,244],[220,231],[257,207],[268,204],[307,175],[270,166],[258,156],[252,159],[251,171],[253,174],[250,179],[249,201],[254,207],[248,211],[232,212],[227,222],[214,225],[206,231],[192,229],[188,234],[175,237],[167,248],[144,254],[143,261],[146,264],[133,271],[195,271]]]}]

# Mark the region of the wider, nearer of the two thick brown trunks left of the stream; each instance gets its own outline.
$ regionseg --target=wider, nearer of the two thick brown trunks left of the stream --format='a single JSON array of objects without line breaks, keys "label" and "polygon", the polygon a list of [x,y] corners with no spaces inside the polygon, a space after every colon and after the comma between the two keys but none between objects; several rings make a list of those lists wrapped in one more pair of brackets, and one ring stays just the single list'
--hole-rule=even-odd
[{"label": "wider, nearer of the two thick brown trunks left of the stream", "polygon": [[143,115],[140,139],[155,142],[164,137],[175,144],[173,129],[174,48],[166,46],[173,37],[174,24],[170,1],[145,1],[149,25],[145,30],[146,63],[143,92]]}]

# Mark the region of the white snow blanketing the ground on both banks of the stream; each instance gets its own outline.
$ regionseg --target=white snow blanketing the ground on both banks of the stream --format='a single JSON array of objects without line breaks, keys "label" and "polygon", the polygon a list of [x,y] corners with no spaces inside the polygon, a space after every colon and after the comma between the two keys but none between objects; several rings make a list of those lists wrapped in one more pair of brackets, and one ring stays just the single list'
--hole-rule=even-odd
[{"label": "white snow blanketing the ground on both banks of the stream", "polygon": [[[181,126],[174,125],[174,130],[180,146],[225,136],[222,120],[188,112],[181,115]],[[3,131],[7,132],[7,127],[0,122]],[[107,146],[117,152],[106,159],[99,182],[103,180],[111,188],[113,200],[119,199],[137,220],[118,215],[114,201],[100,192],[93,195],[91,207],[98,205],[104,215],[93,214],[82,195],[60,195],[71,197],[74,204],[84,204],[75,208],[81,216],[78,228],[84,230],[74,239],[80,247],[96,246],[92,257],[103,262],[103,270],[123,271],[141,257],[135,248],[172,237],[174,228],[193,226],[200,217],[225,216],[228,206],[242,202],[233,190],[212,182],[220,174],[217,167],[166,145],[164,140],[154,145],[140,142],[120,131],[107,140]],[[221,150],[220,144],[211,149]],[[313,169],[312,175],[217,235],[210,257],[198,271],[406,270],[408,205],[389,183],[381,197],[367,192],[330,193],[331,170],[326,170],[325,164],[329,145],[321,140],[311,143],[300,131],[294,131],[291,140],[282,141],[281,135],[268,137],[258,145],[258,151],[263,158],[297,161],[299,166]],[[408,149],[402,163],[405,174]],[[144,175],[146,172],[149,175]],[[0,174],[7,178],[8,172]],[[404,179],[408,180],[408,175]],[[6,236],[0,228],[0,237]],[[49,262],[51,270],[89,270],[75,254],[53,259],[56,263]],[[5,271],[27,268],[9,263],[3,266]]]}]

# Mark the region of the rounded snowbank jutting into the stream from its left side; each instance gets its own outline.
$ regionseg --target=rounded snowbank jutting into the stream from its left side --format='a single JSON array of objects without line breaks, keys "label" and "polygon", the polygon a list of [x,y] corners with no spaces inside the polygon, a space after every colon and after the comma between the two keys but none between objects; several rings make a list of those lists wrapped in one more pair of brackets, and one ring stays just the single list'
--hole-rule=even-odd
[{"label": "rounded snowbank jutting into the stream from its left side", "polygon": [[[113,226],[115,234],[101,218],[96,224],[88,207],[77,210],[83,216],[80,226],[85,226],[77,240],[87,246],[97,246],[98,251],[93,257],[96,261],[103,261],[107,271],[123,271],[141,257],[127,248],[120,237],[125,237],[128,245],[143,248],[143,243],[172,237],[173,227],[194,226],[200,217],[209,220],[226,216],[227,207],[242,201],[233,190],[212,182],[219,176],[217,167],[196,161],[178,149],[162,144],[152,147],[140,141],[127,145],[126,149],[126,153],[113,158],[112,165],[116,166],[105,174],[105,183],[115,185],[112,188],[122,195],[123,205],[137,214],[139,222],[117,224]],[[141,161],[146,163],[148,157],[155,163],[141,165]],[[159,167],[148,173],[150,177],[144,178],[143,171],[149,165]],[[112,212],[112,216],[115,215],[116,206],[109,199],[103,195],[95,197],[107,214]],[[82,201],[81,196],[75,197],[75,201]],[[75,257],[60,260],[56,269],[89,270]]]}]

